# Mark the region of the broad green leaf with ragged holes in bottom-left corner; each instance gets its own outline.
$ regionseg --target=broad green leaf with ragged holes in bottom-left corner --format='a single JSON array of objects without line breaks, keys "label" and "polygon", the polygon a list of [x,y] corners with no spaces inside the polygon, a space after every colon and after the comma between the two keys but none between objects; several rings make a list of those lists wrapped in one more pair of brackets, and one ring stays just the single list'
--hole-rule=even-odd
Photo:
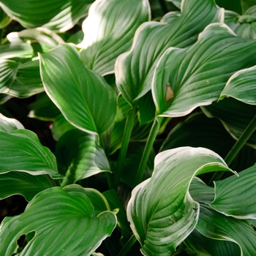
[{"label": "broad green leaf with ragged holes in bottom-left corner", "polygon": [[46,189],[31,200],[23,214],[4,219],[0,253],[12,255],[18,249],[18,238],[34,231],[20,256],[90,255],[115,227],[116,216],[110,211],[95,215],[83,193]]}]

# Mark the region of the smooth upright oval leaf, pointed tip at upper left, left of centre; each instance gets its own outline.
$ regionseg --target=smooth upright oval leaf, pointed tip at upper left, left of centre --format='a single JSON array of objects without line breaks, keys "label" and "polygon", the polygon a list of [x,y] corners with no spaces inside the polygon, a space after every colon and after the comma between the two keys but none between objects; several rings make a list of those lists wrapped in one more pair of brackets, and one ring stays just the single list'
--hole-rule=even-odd
[{"label": "smooth upright oval leaf, pointed tip at upper left, left of centre", "polygon": [[83,67],[70,45],[59,45],[39,59],[45,91],[67,121],[85,132],[105,132],[116,116],[116,95],[104,78]]}]

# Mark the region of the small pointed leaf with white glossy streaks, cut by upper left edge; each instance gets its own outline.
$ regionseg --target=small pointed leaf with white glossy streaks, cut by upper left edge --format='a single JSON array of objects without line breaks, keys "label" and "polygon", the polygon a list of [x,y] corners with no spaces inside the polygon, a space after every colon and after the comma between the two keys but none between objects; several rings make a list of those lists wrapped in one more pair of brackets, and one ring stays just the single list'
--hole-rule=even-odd
[{"label": "small pointed leaf with white glossy streaks, cut by upper left edge", "polygon": [[12,86],[19,67],[16,61],[0,59],[0,93],[7,93]]}]

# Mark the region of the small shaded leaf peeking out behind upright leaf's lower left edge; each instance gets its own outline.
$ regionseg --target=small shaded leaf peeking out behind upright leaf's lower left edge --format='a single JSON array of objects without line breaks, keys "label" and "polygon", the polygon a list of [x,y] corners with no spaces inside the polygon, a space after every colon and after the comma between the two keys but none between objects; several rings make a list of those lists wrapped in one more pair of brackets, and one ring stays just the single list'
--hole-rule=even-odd
[{"label": "small shaded leaf peeking out behind upright leaf's lower left edge", "polygon": [[65,132],[69,131],[69,129],[75,129],[75,127],[73,127],[63,115],[59,114],[59,116],[56,116],[53,121],[53,128],[51,129],[54,140],[58,141]]}]

